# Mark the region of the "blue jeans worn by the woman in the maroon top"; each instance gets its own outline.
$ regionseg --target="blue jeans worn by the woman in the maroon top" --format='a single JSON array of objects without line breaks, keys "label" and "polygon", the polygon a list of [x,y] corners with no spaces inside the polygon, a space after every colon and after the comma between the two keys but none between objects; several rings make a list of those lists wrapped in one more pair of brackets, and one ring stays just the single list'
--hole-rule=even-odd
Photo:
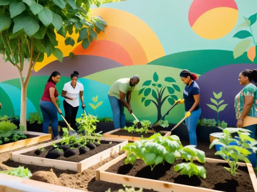
[{"label": "blue jeans worn by the woman in the maroon top", "polygon": [[57,137],[59,135],[58,132],[58,116],[57,109],[52,102],[49,101],[41,101],[39,102],[40,109],[43,114],[43,133],[48,133],[48,127],[51,123],[53,136]]}]

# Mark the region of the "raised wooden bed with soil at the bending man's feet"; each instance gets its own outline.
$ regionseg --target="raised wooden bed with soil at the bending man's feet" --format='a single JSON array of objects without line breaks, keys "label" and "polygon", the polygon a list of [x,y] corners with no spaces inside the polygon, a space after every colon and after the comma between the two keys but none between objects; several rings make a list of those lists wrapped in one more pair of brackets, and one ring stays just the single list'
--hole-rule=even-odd
[{"label": "raised wooden bed with soil at the bending man's feet", "polygon": [[[128,141],[139,141],[141,139],[141,135],[143,135],[145,138],[150,137],[151,135],[153,135],[155,132],[154,130],[149,130],[148,133],[142,133],[142,134],[138,134],[138,133],[129,133],[124,129],[115,129],[112,131],[109,131],[107,133],[103,134],[103,137],[105,138],[116,138],[116,139],[126,139]],[[123,134],[123,135],[119,135],[119,134]],[[169,131],[161,131],[161,134],[163,136],[170,136],[171,132]],[[138,136],[137,136],[138,135]]]}]

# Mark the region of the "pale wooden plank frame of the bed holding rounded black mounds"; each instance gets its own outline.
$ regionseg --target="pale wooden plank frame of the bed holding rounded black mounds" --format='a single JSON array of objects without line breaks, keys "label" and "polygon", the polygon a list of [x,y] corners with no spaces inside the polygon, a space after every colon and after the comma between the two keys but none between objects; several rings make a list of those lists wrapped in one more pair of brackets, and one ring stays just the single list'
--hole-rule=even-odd
[{"label": "pale wooden plank frame of the bed holding rounded black mounds", "polygon": [[102,151],[96,155],[93,155],[91,157],[88,157],[78,163],[76,162],[70,162],[70,161],[61,161],[57,159],[47,159],[47,158],[42,158],[42,157],[32,157],[32,156],[26,156],[26,155],[21,155],[22,153],[26,153],[28,151],[36,150],[39,147],[46,147],[52,145],[52,143],[59,143],[63,139],[59,139],[56,141],[52,141],[49,143],[41,144],[38,146],[30,147],[24,150],[16,151],[10,154],[10,159],[14,162],[18,163],[25,163],[25,164],[31,164],[31,165],[38,165],[38,166],[44,166],[44,167],[54,167],[57,169],[61,170],[72,170],[75,172],[82,172],[83,170],[87,169],[90,166],[93,166],[100,161],[113,156],[115,153],[118,153],[122,150],[122,147],[128,144],[128,140],[124,139],[114,139],[114,138],[99,138],[99,140],[105,140],[105,141],[116,141],[116,142],[121,142],[111,148],[108,148],[105,151]]}]

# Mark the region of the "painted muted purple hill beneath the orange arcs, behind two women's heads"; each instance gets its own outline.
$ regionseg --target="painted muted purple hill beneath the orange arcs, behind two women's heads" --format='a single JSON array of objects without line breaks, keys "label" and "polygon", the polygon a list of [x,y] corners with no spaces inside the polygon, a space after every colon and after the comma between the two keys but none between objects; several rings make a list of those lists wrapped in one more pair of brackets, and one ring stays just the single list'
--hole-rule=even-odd
[{"label": "painted muted purple hill beneath the orange arcs, behind two women's heads", "polygon": [[79,77],[85,77],[92,73],[116,67],[123,67],[123,65],[117,61],[104,57],[74,55],[71,59],[69,57],[64,57],[62,63],[58,60],[53,61],[38,72],[33,71],[32,76],[49,76],[53,71],[59,71],[62,76],[70,77],[70,74],[73,71],[78,71]]}]

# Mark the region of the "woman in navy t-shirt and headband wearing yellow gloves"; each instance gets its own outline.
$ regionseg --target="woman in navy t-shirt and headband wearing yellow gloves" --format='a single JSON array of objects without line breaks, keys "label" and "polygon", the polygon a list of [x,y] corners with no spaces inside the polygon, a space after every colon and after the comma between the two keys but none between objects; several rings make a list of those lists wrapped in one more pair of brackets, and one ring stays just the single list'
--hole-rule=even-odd
[{"label": "woman in navy t-shirt and headband wearing yellow gloves", "polygon": [[187,69],[181,71],[180,78],[186,87],[183,92],[184,99],[179,103],[185,103],[186,115],[188,118],[185,119],[187,130],[189,133],[190,145],[197,145],[196,140],[196,125],[201,115],[200,102],[200,89],[195,80],[198,79],[195,73],[191,73]]}]

